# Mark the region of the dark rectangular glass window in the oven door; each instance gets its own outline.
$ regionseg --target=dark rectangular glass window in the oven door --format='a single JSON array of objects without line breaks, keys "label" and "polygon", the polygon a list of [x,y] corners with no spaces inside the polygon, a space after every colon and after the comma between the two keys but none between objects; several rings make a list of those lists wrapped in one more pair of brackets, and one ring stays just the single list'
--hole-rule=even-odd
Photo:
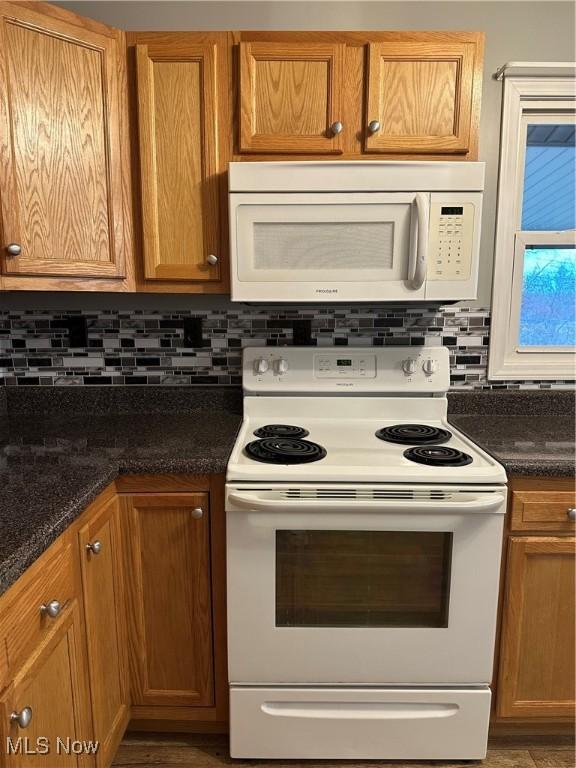
[{"label": "dark rectangular glass window in the oven door", "polygon": [[452,533],[276,531],[277,627],[447,627]]}]

